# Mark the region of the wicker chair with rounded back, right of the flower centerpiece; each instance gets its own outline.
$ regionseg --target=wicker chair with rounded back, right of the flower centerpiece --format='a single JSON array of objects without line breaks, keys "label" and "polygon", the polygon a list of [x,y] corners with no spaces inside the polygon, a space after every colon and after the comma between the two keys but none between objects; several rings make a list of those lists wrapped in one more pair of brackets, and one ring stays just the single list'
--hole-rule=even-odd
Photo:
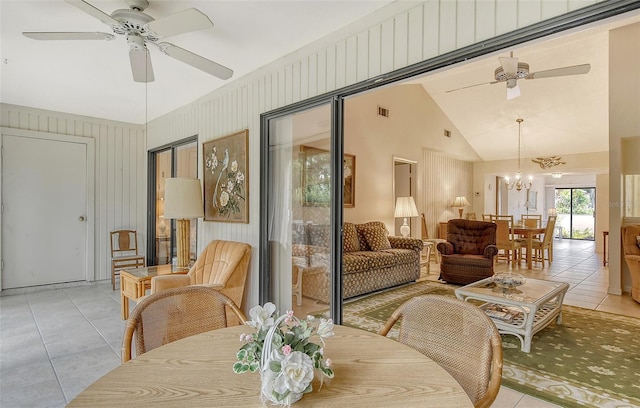
[{"label": "wicker chair with rounded back, right of the flower centerpiece", "polygon": [[502,340],[482,310],[449,296],[418,296],[396,309],[379,334],[400,318],[401,343],[447,370],[475,407],[491,406],[502,382]]}]

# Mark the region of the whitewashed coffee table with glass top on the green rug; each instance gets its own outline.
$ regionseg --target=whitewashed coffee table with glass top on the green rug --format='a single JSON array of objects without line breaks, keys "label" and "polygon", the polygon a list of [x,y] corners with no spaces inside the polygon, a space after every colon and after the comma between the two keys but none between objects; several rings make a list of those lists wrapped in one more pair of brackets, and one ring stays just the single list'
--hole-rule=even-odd
[{"label": "whitewashed coffee table with glass top on the green rug", "polygon": [[501,334],[520,339],[521,350],[531,351],[534,334],[547,327],[555,318],[562,323],[562,301],[569,289],[566,282],[526,279],[514,289],[503,290],[486,278],[455,290],[461,300],[478,300]]}]

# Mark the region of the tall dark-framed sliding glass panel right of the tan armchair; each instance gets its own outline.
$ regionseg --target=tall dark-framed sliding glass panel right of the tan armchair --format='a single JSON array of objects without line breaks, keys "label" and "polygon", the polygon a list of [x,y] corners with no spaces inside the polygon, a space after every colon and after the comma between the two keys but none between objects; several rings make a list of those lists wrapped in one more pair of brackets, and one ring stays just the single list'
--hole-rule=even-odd
[{"label": "tall dark-framed sliding glass panel right of the tan armchair", "polygon": [[[316,104],[266,121],[261,231],[261,303],[296,315],[326,313],[339,322],[343,174],[336,157],[332,109]],[[340,156],[337,156],[340,157]],[[340,200],[336,209],[335,203]],[[336,303],[340,303],[336,305]]]}]

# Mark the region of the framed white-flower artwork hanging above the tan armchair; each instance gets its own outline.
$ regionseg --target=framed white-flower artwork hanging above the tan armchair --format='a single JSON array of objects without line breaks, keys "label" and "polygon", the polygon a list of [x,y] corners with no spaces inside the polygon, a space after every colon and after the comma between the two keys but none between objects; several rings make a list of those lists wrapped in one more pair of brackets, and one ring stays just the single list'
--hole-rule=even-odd
[{"label": "framed white-flower artwork hanging above the tan armchair", "polygon": [[202,144],[204,220],[249,222],[249,131]]}]

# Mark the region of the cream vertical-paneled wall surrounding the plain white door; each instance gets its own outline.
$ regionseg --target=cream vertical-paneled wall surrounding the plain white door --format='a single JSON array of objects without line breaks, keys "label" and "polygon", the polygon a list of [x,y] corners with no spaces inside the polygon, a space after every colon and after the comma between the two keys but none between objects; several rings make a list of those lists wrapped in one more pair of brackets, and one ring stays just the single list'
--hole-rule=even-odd
[{"label": "cream vertical-paneled wall surrounding the plain white door", "polygon": [[[95,140],[95,278],[111,276],[109,232],[138,231],[146,250],[147,154],[140,125],[76,116],[60,112],[0,104],[0,126],[93,138]],[[89,220],[92,221],[92,220]],[[5,238],[6,239],[6,238]]]}]

